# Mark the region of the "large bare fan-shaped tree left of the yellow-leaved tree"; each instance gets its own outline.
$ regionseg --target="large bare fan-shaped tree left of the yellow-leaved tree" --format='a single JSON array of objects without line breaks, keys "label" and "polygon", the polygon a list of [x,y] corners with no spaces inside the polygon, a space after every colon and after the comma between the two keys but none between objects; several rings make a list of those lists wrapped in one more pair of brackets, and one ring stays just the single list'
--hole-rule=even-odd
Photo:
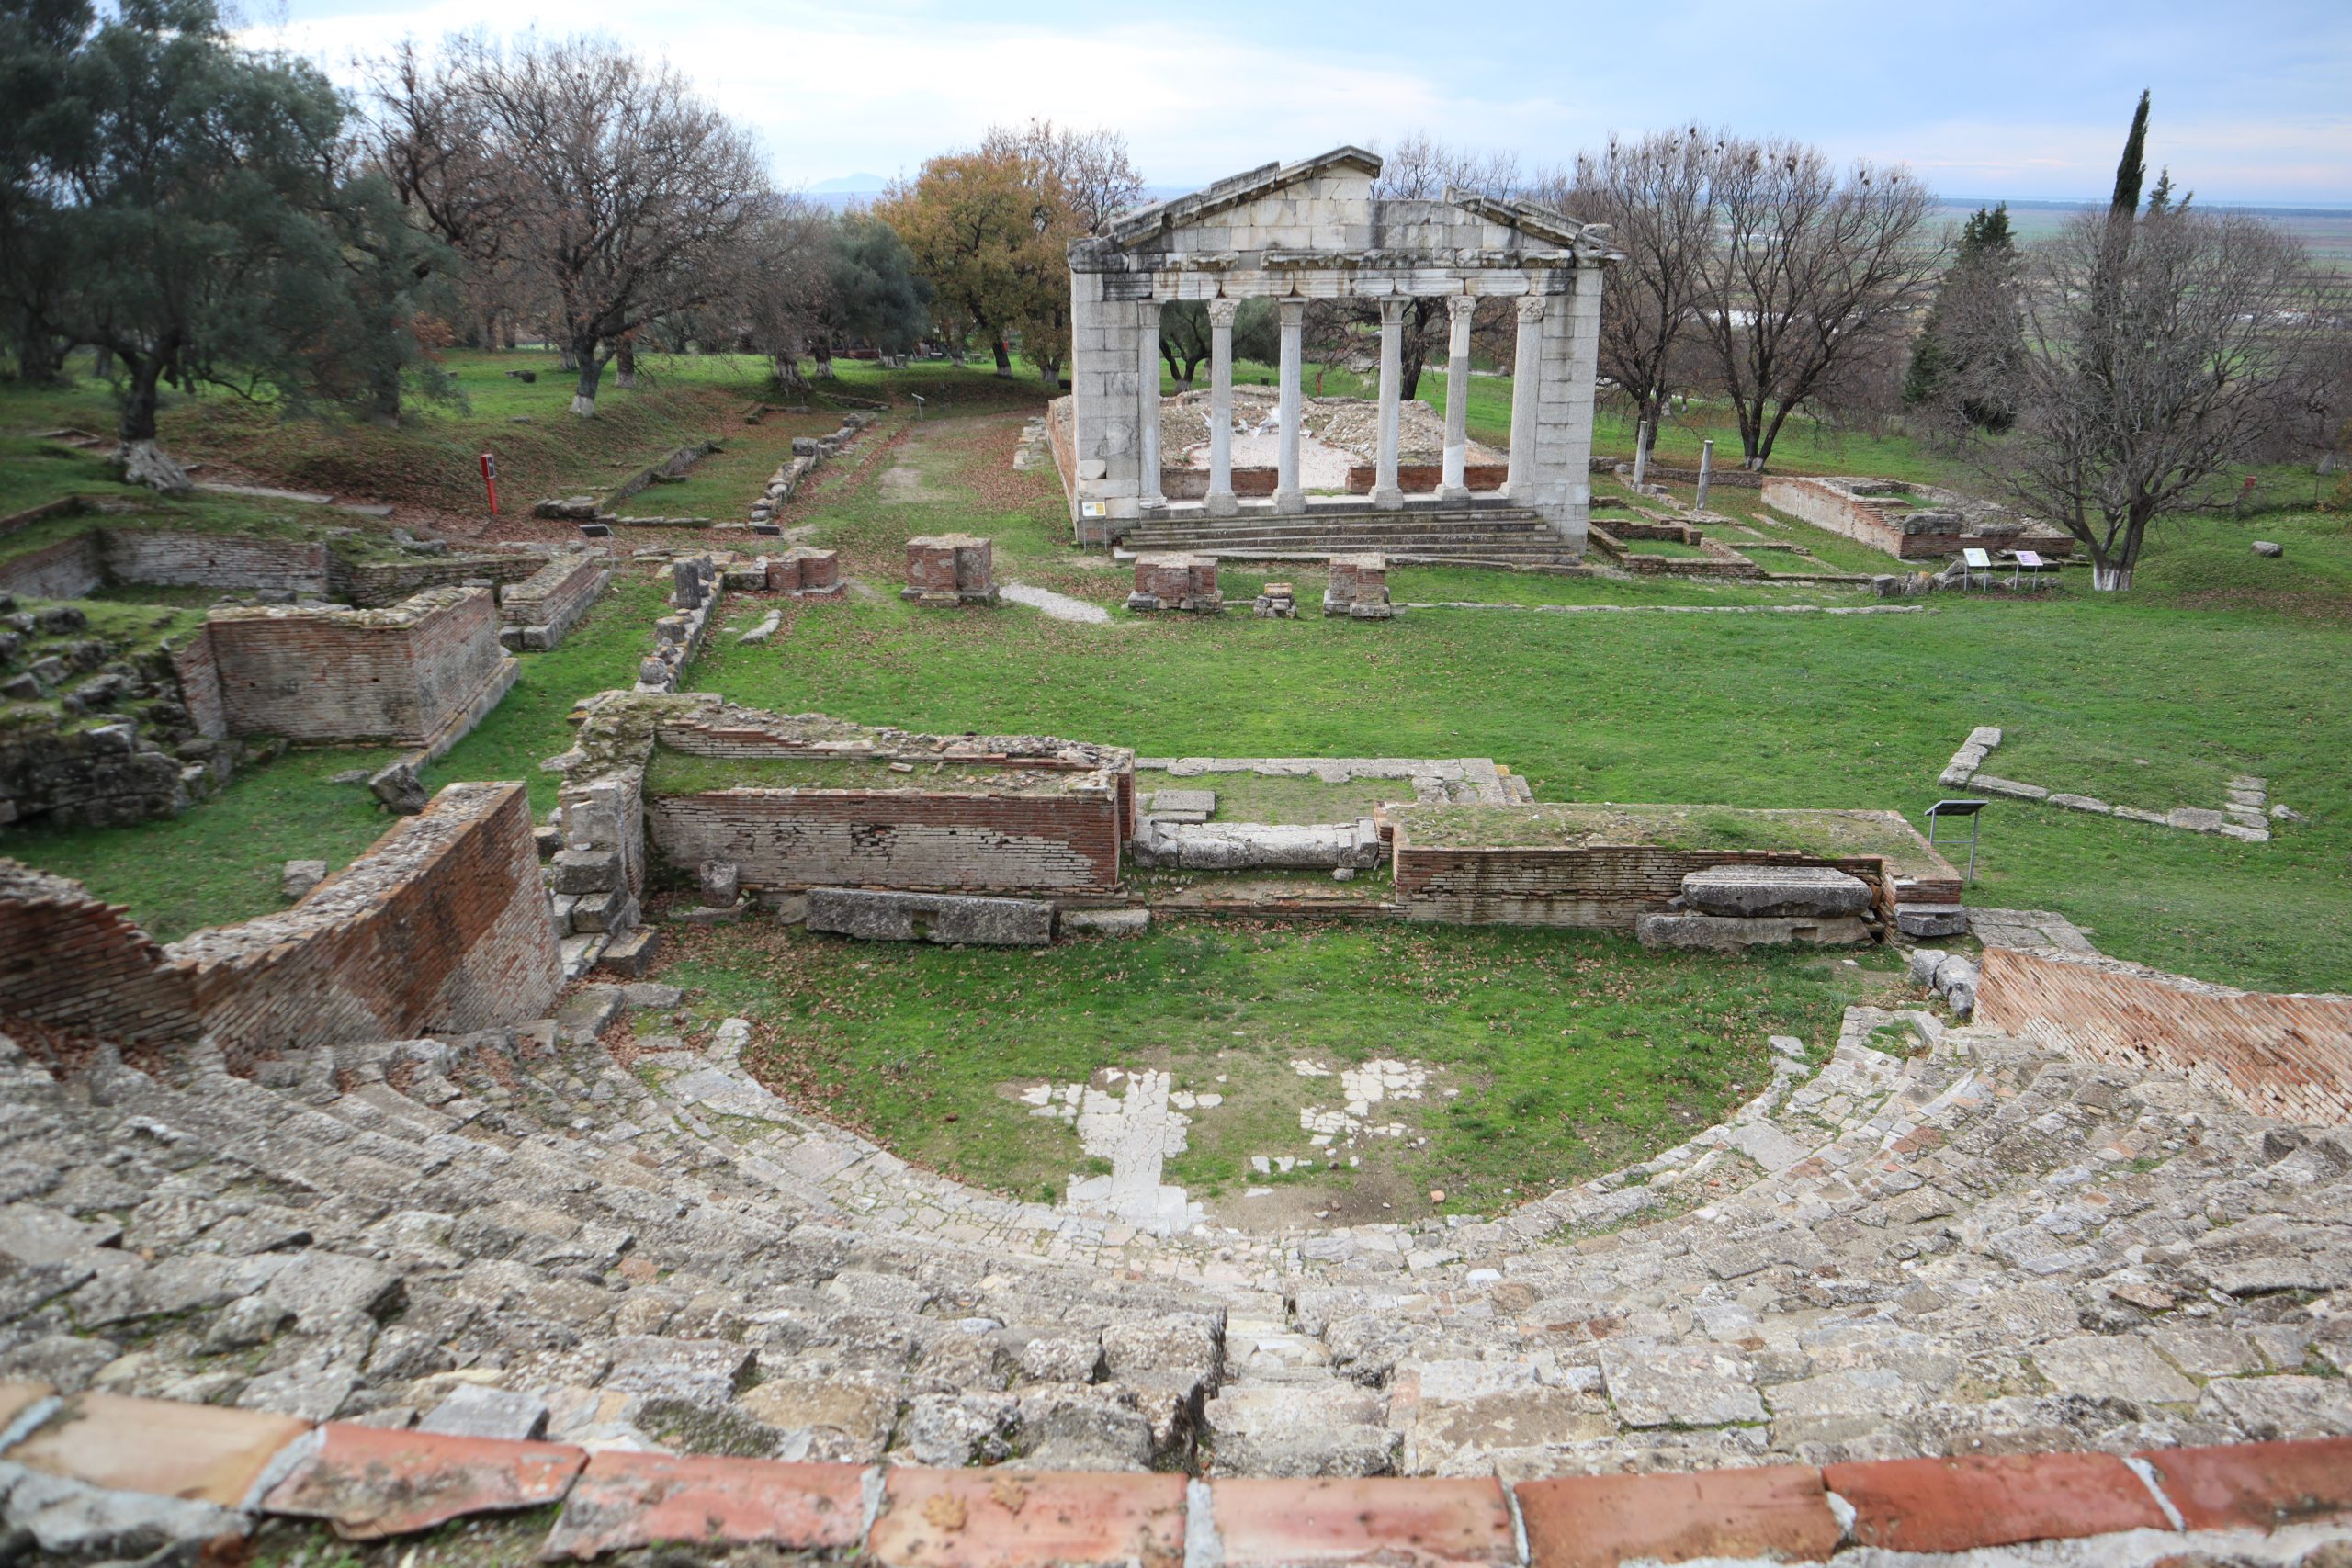
[{"label": "large bare fan-shaped tree left of the yellow-leaved tree", "polygon": [[604,364],[635,329],[734,287],[767,174],[684,78],[609,42],[532,40],[485,56],[475,87],[520,186],[517,244],[579,364],[572,411],[595,414]]}]

